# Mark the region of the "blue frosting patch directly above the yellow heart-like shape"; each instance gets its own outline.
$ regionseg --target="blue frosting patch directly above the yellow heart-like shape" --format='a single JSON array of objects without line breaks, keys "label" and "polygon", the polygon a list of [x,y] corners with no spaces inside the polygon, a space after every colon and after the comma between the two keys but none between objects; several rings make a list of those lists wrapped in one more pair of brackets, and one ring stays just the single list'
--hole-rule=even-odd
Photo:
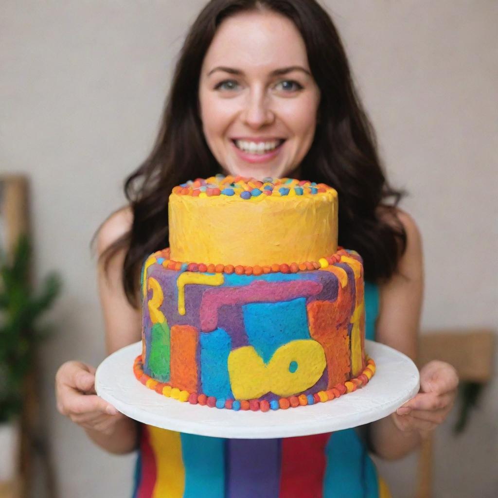
[{"label": "blue frosting patch directly above the yellow heart-like shape", "polygon": [[304,297],[278,303],[250,303],[242,309],[249,344],[264,363],[283,344],[310,338]]}]

